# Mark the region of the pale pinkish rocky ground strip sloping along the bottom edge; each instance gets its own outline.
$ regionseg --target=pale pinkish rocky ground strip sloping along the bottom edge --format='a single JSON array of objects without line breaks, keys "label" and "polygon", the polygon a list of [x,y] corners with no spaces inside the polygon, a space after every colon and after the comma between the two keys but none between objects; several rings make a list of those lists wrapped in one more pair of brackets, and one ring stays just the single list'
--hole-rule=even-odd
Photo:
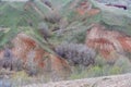
[{"label": "pale pinkish rocky ground strip sloping along the bottom edge", "polygon": [[23,87],[131,87],[131,74],[33,84]]}]

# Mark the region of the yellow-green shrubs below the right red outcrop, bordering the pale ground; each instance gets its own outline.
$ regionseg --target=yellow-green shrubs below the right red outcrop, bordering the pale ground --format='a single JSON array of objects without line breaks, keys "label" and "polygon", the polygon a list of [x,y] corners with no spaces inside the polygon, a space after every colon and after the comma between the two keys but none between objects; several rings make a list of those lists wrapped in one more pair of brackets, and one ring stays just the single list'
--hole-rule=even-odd
[{"label": "yellow-green shrubs below the right red outcrop, bordering the pale ground", "polygon": [[[80,70],[76,66],[74,70]],[[107,61],[99,55],[95,58],[95,65],[87,67],[81,72],[73,71],[70,76],[70,79],[79,79],[86,77],[98,77],[98,76],[108,76],[117,74],[126,74],[131,72],[131,63],[128,58],[119,58],[115,64],[110,65]]]}]

